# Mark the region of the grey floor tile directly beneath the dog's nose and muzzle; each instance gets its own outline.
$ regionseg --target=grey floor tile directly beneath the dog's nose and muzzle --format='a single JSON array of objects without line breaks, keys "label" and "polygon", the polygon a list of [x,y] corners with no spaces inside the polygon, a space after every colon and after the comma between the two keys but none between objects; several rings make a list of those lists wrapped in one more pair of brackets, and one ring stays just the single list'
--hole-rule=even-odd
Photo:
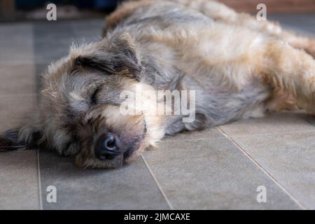
[{"label": "grey floor tile directly beneath the dog's nose and muzzle", "polygon": [[[80,169],[73,158],[40,152],[43,209],[169,209],[144,160],[121,169]],[[47,187],[57,188],[48,203]]]}]

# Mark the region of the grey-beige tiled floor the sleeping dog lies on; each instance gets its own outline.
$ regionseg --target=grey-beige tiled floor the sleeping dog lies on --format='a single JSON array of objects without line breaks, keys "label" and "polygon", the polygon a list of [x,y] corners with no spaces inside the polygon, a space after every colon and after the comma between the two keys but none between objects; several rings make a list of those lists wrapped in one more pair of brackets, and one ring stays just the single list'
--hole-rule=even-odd
[{"label": "grey-beige tiled floor the sleeping dog lies on", "polygon": [[[270,15],[315,35],[315,15]],[[103,20],[0,24],[0,131],[36,104],[39,74]],[[81,170],[42,151],[0,153],[0,209],[315,209],[315,118],[269,114],[167,137],[134,164]],[[48,186],[57,202],[47,201]],[[258,186],[267,202],[258,203]]]}]

